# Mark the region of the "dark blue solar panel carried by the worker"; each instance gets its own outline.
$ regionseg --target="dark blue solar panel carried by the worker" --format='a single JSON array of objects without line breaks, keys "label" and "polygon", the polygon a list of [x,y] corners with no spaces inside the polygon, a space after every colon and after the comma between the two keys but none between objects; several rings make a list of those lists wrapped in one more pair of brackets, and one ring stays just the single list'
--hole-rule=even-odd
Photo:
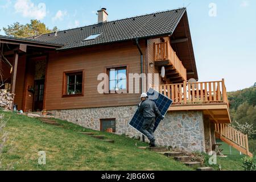
[{"label": "dark blue solar panel carried by the worker", "polygon": [[[152,88],[148,89],[147,95],[148,99],[154,101],[156,106],[158,106],[160,113],[162,115],[166,115],[169,107],[172,105],[172,100],[170,100],[170,98],[164,96],[163,94],[160,94]],[[137,109],[129,125],[134,127],[134,129],[138,130],[139,132],[141,132],[143,121],[143,114],[140,113],[139,110]],[[156,118],[154,131],[157,129],[161,121],[162,120],[159,117]]]}]

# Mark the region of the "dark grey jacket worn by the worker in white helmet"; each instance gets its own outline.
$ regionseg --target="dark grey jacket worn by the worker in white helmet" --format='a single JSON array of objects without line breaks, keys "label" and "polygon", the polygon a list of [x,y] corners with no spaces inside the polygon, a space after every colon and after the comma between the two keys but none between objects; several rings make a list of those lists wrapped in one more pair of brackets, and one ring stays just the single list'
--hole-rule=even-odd
[{"label": "dark grey jacket worn by the worker in white helmet", "polygon": [[156,116],[162,116],[155,102],[148,99],[142,101],[141,106],[139,106],[139,111],[146,119],[156,118]]}]

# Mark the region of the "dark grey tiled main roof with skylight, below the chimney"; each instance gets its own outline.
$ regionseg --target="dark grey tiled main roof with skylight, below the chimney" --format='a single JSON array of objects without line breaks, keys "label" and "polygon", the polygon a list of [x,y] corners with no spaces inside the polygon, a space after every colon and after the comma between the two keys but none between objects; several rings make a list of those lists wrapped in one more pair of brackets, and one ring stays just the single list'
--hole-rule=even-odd
[{"label": "dark grey tiled main roof with skylight, below the chimney", "polygon": [[[57,32],[57,36],[55,36],[55,33],[51,33],[29,39],[52,44],[64,44],[59,49],[72,49],[97,44],[122,42],[134,38],[170,35],[174,32],[185,11],[185,8],[162,11],[60,31]],[[101,33],[101,35],[94,40],[84,41],[85,38],[96,33]]]}]

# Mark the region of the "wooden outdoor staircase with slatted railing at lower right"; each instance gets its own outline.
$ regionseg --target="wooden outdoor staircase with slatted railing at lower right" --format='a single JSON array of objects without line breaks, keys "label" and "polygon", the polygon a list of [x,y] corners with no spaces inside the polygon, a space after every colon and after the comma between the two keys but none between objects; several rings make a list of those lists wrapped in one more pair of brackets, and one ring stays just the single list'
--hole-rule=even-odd
[{"label": "wooden outdoor staircase with slatted railing at lower right", "polygon": [[247,135],[242,134],[227,124],[220,123],[215,125],[215,135],[216,138],[228,143],[230,146],[236,148],[236,150],[242,152],[242,154],[253,157],[253,154],[249,151]]}]

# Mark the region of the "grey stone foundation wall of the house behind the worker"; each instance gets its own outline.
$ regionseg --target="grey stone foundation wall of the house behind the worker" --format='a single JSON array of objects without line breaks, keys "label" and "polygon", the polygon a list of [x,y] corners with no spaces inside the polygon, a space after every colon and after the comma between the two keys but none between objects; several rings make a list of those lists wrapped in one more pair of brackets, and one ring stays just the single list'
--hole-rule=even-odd
[{"label": "grey stone foundation wall of the house behind the worker", "polygon": [[[116,134],[141,137],[129,122],[137,106],[101,107],[90,109],[53,110],[51,113],[77,125],[100,130],[100,119],[116,119]],[[172,146],[185,151],[205,152],[202,111],[168,112],[155,131],[158,146]]]}]

